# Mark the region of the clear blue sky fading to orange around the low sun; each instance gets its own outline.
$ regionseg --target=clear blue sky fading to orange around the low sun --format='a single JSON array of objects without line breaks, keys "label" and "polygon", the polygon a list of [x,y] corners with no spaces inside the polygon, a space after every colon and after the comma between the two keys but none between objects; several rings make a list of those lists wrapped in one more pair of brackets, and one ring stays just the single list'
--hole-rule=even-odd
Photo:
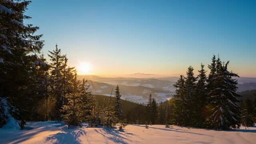
[{"label": "clear blue sky fading to orange around the low sun", "polygon": [[[79,74],[179,76],[213,54],[256,77],[256,1],[32,0],[25,23],[40,27]],[[206,68],[207,69],[207,68]]]}]

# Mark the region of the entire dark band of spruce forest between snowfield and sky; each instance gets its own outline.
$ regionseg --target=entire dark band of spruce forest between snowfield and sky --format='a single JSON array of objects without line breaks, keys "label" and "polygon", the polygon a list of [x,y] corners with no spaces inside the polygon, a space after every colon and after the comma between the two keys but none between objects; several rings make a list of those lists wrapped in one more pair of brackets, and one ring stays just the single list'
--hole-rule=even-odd
[{"label": "entire dark band of spruce forest between snowfield and sky", "polygon": [[34,35],[39,27],[24,24],[24,19],[30,19],[24,15],[28,4],[30,1],[0,3],[0,127],[10,117],[21,128],[25,121],[46,120],[64,120],[68,126],[89,122],[91,127],[118,123],[120,129],[125,123],[213,129],[254,125],[256,100],[239,101],[238,75],[228,70],[229,62],[215,56],[208,65],[208,76],[204,65],[198,76],[190,66],[186,77],[180,76],[174,85],[176,94],[170,101],[158,104],[150,95],[146,105],[131,104],[124,110],[118,86],[110,92],[112,96],[97,101],[57,45],[46,61],[42,35]]}]

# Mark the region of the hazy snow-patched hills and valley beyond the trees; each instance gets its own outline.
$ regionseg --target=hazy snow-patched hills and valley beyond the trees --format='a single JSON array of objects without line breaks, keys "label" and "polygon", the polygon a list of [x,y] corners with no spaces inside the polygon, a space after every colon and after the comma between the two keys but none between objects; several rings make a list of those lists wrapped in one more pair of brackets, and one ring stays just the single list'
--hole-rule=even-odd
[{"label": "hazy snow-patched hills and valley beyond the trees", "polygon": [[[119,85],[122,99],[137,103],[146,103],[147,97],[152,94],[158,102],[164,102],[172,98],[175,88],[173,84],[179,77],[161,78],[124,78],[124,77],[99,77],[93,75],[79,76],[79,79],[87,79],[92,94],[110,96],[113,88],[114,95],[116,85]],[[256,89],[256,78],[238,78],[238,92]]]}]

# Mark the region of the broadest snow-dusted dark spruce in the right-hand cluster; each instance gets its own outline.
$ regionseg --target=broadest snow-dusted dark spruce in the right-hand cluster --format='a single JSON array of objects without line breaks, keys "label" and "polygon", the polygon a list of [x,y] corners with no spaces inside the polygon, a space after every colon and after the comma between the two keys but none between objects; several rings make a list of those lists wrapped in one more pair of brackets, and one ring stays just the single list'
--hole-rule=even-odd
[{"label": "broadest snow-dusted dark spruce in the right-hand cluster", "polygon": [[208,94],[211,98],[211,116],[208,118],[210,127],[218,130],[240,127],[240,107],[237,91],[237,74],[228,71],[228,64],[216,62],[216,74],[214,74],[214,89]]}]

